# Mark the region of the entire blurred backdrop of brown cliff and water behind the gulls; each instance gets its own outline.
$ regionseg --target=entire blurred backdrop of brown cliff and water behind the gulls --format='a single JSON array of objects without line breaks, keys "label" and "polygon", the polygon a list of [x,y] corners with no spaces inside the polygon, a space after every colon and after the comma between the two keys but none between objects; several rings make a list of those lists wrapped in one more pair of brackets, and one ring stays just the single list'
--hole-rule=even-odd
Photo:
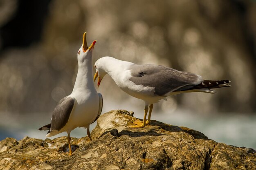
[{"label": "entire blurred backdrop of brown cliff and water behind the gulls", "polygon": [[[0,0],[0,140],[45,139],[38,128],[72,92],[85,31],[88,45],[97,40],[93,62],[112,56],[231,80],[216,95],[168,97],[154,105],[152,119],[256,149],[255,0]],[[109,76],[97,90],[102,113],[126,109],[143,118],[144,102]]]}]

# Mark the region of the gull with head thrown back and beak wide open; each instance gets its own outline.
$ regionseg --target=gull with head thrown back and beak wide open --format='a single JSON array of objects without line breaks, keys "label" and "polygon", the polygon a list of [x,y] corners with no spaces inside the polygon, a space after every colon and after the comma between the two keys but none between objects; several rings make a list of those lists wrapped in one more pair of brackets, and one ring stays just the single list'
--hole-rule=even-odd
[{"label": "gull with head thrown back and beak wide open", "polygon": [[87,128],[90,135],[90,124],[101,115],[103,99],[101,93],[97,93],[92,77],[92,51],[96,40],[88,48],[86,32],[83,34],[83,44],[77,53],[78,73],[73,91],[70,95],[61,99],[54,108],[51,124],[38,130],[49,130],[46,137],[52,137],[61,132],[67,132],[67,141],[70,155],[70,132],[77,127]]}]

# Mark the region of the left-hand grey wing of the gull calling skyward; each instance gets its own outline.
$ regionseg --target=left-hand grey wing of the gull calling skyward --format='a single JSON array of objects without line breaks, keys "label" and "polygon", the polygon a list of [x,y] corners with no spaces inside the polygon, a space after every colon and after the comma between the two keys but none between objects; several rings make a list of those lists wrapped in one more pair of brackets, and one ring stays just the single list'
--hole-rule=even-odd
[{"label": "left-hand grey wing of the gull calling skyward", "polygon": [[61,130],[66,124],[70,117],[75,104],[75,99],[73,97],[64,97],[58,102],[56,108],[54,108],[52,114],[51,129]]}]

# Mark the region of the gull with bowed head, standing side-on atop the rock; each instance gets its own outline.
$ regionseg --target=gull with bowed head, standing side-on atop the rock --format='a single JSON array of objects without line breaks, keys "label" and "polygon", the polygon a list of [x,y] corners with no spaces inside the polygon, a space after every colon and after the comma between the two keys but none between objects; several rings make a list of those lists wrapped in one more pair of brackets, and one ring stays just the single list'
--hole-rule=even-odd
[{"label": "gull with bowed head, standing side-on atop the rock", "polygon": [[[103,77],[108,74],[117,86],[129,95],[145,102],[143,121],[135,121],[130,128],[143,128],[150,124],[153,104],[170,95],[188,92],[216,93],[211,88],[229,87],[229,80],[204,80],[200,75],[177,71],[160,65],[134,64],[117,60],[113,57],[102,57],[95,62],[98,86]],[[149,113],[148,113],[149,108]],[[146,116],[148,113],[148,120]]]}]

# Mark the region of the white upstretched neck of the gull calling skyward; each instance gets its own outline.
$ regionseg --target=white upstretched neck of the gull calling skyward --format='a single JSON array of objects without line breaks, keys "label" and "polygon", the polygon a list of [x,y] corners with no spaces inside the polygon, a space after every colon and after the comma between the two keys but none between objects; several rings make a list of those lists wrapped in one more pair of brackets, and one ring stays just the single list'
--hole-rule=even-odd
[{"label": "white upstretched neck of the gull calling skyward", "polygon": [[92,78],[92,57],[88,57],[83,63],[78,62],[78,72],[73,92],[78,89],[86,90],[92,87],[94,87]]}]

